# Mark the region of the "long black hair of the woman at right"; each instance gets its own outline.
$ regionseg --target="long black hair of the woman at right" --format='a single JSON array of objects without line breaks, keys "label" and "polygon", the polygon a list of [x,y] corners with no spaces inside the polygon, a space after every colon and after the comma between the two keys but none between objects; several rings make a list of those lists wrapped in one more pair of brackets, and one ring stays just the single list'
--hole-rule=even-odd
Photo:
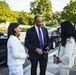
[{"label": "long black hair of the woman at right", "polygon": [[66,45],[67,38],[73,37],[75,38],[75,28],[69,21],[64,21],[61,23],[61,44],[62,46]]}]

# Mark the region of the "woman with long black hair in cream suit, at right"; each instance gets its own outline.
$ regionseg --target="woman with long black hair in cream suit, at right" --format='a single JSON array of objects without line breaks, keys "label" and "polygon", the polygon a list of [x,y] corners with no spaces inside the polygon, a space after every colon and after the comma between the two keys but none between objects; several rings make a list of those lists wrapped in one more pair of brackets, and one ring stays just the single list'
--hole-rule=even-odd
[{"label": "woman with long black hair in cream suit, at right", "polygon": [[75,51],[75,28],[69,22],[61,23],[61,46],[59,50],[60,75],[69,75],[70,69],[74,66],[74,51]]}]

